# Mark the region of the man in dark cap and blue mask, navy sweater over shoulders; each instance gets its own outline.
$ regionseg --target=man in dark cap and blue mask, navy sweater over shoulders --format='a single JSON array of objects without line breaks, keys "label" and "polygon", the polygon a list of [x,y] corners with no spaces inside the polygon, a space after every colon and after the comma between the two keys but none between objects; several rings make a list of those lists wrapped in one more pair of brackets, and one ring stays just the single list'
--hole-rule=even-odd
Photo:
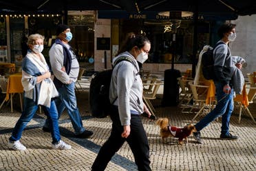
[{"label": "man in dark cap and blue mask, navy sweater over shoulders", "polygon": [[[75,84],[79,72],[79,63],[76,54],[69,45],[72,39],[72,32],[67,25],[58,25],[55,43],[50,48],[50,64],[54,73],[54,85],[58,89],[59,97],[56,99],[58,118],[66,108],[70,116],[76,137],[87,138],[93,134],[92,131],[83,128],[83,122],[76,104]],[[48,131],[48,120],[43,126]]]}]

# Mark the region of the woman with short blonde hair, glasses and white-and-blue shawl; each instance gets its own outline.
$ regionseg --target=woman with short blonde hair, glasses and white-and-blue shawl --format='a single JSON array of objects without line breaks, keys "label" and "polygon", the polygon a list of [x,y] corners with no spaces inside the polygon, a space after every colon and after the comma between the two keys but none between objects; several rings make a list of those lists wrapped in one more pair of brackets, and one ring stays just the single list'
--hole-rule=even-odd
[{"label": "woman with short blonde hair, glasses and white-and-blue shawl", "polygon": [[8,148],[13,150],[26,150],[19,141],[21,134],[28,122],[34,117],[39,105],[44,105],[45,113],[50,119],[52,134],[52,148],[60,150],[70,150],[68,145],[61,140],[58,130],[58,112],[53,98],[58,96],[54,83],[50,79],[51,73],[43,54],[43,39],[40,34],[32,34],[28,37],[28,53],[22,63],[22,85],[24,90],[24,110],[17,121],[12,136],[8,142]]}]

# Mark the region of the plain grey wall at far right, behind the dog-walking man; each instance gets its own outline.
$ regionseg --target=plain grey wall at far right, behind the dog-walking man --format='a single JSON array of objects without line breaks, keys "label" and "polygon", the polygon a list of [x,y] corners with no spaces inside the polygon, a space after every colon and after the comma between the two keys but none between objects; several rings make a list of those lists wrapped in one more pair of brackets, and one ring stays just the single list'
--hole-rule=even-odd
[{"label": "plain grey wall at far right, behind the dog-walking man", "polygon": [[246,76],[246,73],[256,71],[256,14],[239,16],[232,23],[237,24],[235,27],[237,38],[230,45],[231,54],[246,60],[246,66],[242,68],[242,72]]}]

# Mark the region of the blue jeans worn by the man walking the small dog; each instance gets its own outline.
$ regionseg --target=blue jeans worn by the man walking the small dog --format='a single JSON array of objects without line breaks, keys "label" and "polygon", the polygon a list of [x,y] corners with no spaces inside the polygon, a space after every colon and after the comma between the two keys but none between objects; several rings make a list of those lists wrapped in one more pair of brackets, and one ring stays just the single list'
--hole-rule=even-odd
[{"label": "blue jeans worn by the man walking the small dog", "polygon": [[215,108],[207,114],[201,121],[196,123],[196,130],[200,131],[209,123],[222,116],[222,134],[229,134],[229,121],[234,108],[233,101],[233,89],[230,94],[223,92],[224,85],[219,82],[215,82],[217,105]]}]

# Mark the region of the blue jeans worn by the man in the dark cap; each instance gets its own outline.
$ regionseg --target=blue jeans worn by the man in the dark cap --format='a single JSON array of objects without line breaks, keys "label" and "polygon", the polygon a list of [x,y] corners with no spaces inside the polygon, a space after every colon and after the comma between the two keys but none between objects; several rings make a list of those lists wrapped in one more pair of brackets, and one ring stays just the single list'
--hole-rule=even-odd
[{"label": "blue jeans worn by the man in the dark cap", "polygon": [[[71,123],[75,130],[75,134],[81,134],[85,131],[80,112],[76,105],[75,83],[65,84],[62,88],[58,89],[59,97],[56,98],[55,103],[58,110],[58,119],[67,108],[67,113],[70,116]],[[49,119],[45,121],[44,127],[49,128]]]}]

